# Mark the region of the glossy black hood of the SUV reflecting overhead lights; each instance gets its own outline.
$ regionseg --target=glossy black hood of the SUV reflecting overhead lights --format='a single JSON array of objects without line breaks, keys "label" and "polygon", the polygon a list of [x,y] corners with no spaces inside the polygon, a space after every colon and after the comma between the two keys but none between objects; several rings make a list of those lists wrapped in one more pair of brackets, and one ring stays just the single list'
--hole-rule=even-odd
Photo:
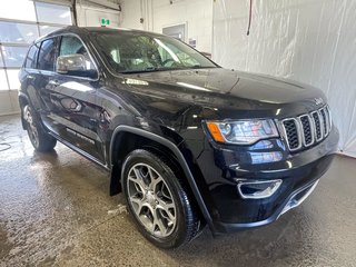
[{"label": "glossy black hood of the SUV reflecting overhead lights", "polygon": [[219,119],[286,117],[326,101],[320,90],[303,83],[222,68],[126,75],[120,83],[138,112],[150,117],[188,109],[215,110]]}]

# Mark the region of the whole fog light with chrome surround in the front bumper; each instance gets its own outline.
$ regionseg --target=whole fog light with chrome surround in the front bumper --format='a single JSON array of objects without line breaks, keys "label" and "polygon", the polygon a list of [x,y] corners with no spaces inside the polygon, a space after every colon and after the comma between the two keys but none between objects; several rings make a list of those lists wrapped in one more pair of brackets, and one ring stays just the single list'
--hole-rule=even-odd
[{"label": "whole fog light with chrome surround in the front bumper", "polygon": [[279,186],[281,180],[241,180],[237,179],[237,190],[244,199],[261,199],[268,198],[274,195]]}]

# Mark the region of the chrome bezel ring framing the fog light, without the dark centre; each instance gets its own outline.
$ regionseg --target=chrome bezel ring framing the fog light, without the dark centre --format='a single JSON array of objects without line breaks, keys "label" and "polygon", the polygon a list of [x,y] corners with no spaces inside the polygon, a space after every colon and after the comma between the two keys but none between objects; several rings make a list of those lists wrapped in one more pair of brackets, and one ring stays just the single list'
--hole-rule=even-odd
[{"label": "chrome bezel ring framing the fog light, without the dark centre", "polygon": [[[275,180],[246,180],[246,179],[235,179],[238,185],[237,185],[237,190],[239,195],[241,196],[243,199],[261,199],[261,198],[268,198],[273,196],[278,188],[281,185],[281,179],[275,179]],[[248,185],[260,185],[260,184],[274,184],[273,188],[269,189],[270,187],[267,187],[266,189],[261,190],[260,192],[257,194],[244,194],[241,190],[243,186],[248,186]]]}]

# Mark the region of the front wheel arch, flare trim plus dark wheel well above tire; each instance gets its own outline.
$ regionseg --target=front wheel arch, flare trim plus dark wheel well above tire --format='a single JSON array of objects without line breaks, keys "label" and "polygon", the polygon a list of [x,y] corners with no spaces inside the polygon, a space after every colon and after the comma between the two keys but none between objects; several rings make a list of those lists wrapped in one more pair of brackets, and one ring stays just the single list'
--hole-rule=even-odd
[{"label": "front wheel arch, flare trim plus dark wheel well above tire", "polygon": [[[125,144],[123,147],[122,144]],[[112,134],[110,141],[110,195],[112,196],[121,191],[120,180],[123,160],[130,151],[138,148],[144,148],[158,156],[162,156],[175,171],[181,172],[181,177],[185,179],[184,182],[189,190],[188,194],[194,198],[192,200],[196,202],[199,214],[211,227],[210,214],[181,151],[170,140],[139,128],[118,126]]]}]

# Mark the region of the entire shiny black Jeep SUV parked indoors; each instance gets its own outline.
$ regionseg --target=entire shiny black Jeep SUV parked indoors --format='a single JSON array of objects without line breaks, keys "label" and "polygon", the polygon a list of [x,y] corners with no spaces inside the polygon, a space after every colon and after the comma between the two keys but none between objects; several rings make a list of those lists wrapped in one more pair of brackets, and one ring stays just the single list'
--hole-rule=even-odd
[{"label": "entire shiny black Jeep SUV parked indoors", "polygon": [[141,234],[162,248],[267,225],[298,206],[337,149],[325,96],[222,69],[157,33],[69,27],[20,71],[22,125],[110,172]]}]

